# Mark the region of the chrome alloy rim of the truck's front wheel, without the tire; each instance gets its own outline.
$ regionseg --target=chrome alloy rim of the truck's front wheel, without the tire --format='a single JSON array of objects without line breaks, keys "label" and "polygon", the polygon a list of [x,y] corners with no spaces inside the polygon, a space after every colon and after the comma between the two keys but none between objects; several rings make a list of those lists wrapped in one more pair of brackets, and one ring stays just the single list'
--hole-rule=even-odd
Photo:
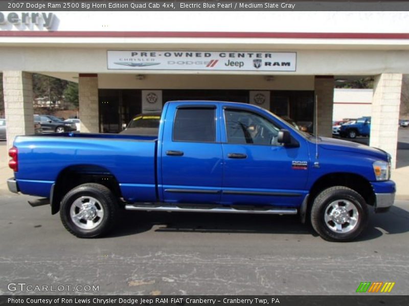
[{"label": "chrome alloy rim of the truck's front wheel, without the tire", "polygon": [[325,225],[335,233],[349,233],[358,223],[359,213],[349,200],[336,200],[328,205],[324,220]]}]

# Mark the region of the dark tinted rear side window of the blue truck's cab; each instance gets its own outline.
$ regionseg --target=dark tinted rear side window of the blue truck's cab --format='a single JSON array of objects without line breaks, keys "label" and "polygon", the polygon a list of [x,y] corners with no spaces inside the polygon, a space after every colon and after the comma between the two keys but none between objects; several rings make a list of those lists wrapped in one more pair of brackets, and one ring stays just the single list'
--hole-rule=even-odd
[{"label": "dark tinted rear side window of the blue truck's cab", "polygon": [[178,108],[173,122],[173,141],[215,142],[215,108]]}]

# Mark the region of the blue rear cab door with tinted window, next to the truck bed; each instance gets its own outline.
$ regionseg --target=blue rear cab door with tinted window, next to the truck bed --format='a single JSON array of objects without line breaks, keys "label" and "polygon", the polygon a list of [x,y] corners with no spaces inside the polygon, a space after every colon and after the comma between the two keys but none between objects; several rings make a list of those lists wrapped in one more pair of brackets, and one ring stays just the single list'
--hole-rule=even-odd
[{"label": "blue rear cab door with tinted window, next to the truck bed", "polygon": [[217,103],[169,104],[159,182],[165,202],[220,201],[223,156],[218,112]]}]

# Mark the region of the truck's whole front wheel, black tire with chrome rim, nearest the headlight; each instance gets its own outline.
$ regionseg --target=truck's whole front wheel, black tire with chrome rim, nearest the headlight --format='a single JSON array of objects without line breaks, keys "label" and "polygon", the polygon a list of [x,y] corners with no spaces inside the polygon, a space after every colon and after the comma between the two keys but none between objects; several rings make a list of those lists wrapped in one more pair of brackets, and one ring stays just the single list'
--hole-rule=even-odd
[{"label": "truck's whole front wheel, black tire with chrome rim, nearest the headlight", "polygon": [[[336,204],[334,204],[335,202]],[[351,217],[351,223],[347,221],[340,225],[342,228],[340,228],[338,232],[338,228],[331,229],[331,227],[339,226],[340,222],[338,224],[332,220],[327,222],[326,218],[332,218],[332,215],[336,213],[339,215],[339,210],[343,210],[343,205],[345,205],[344,208],[347,208],[346,203],[348,203],[348,207],[352,205],[354,208],[354,210],[351,209],[351,211],[348,211],[347,214],[347,216]],[[334,205],[338,206],[339,209],[334,209]],[[332,210],[334,210],[333,213]],[[329,212],[332,214],[329,215]],[[365,230],[368,225],[368,215],[367,203],[359,193],[344,186],[334,186],[325,189],[314,199],[311,208],[311,224],[315,232],[323,239],[327,241],[347,242],[352,241]],[[354,217],[353,219],[356,220],[356,222],[352,221],[352,217]],[[352,226],[351,224],[354,222],[355,224]],[[349,227],[351,227],[350,230],[348,230]]]}]

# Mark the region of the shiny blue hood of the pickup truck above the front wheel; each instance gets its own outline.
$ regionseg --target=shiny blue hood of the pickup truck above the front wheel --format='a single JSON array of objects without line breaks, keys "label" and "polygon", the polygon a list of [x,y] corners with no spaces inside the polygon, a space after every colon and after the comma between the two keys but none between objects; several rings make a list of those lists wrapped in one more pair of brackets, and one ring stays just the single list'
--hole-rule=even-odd
[{"label": "shiny blue hood of the pickup truck above the front wheel", "polygon": [[383,161],[388,161],[387,152],[378,148],[370,147],[365,144],[360,144],[352,141],[321,137],[319,146],[323,149],[365,154],[379,158]]}]

